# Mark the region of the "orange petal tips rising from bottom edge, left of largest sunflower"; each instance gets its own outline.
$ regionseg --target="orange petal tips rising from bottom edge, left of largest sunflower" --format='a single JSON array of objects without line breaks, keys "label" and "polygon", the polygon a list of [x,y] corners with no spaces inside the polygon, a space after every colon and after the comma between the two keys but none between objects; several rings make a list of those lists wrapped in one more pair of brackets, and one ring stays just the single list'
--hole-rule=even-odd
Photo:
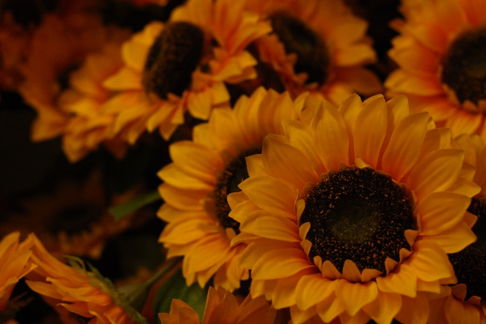
[{"label": "orange petal tips rising from bottom edge, left of largest sunflower", "polygon": [[274,323],[276,311],[259,297],[251,299],[247,296],[239,303],[236,297],[223,287],[209,287],[203,320],[183,301],[174,299],[170,313],[159,313],[162,324],[243,324],[243,323]]}]

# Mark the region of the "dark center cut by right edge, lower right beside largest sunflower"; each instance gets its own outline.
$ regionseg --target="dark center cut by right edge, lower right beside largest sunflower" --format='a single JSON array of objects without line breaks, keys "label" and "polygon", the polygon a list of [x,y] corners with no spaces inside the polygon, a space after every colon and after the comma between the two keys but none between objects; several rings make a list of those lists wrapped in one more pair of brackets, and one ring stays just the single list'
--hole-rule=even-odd
[{"label": "dark center cut by right edge, lower right beside largest sunflower", "polygon": [[461,252],[449,254],[457,282],[466,284],[466,299],[471,296],[486,298],[486,200],[472,198],[468,212],[478,216],[472,231],[478,239]]}]

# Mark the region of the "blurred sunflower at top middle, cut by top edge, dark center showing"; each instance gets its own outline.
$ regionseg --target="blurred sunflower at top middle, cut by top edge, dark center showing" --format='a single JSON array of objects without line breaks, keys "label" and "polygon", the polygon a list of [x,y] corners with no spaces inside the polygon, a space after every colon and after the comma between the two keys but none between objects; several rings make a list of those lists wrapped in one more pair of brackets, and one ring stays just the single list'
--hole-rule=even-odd
[{"label": "blurred sunflower at top middle, cut by top edge, dark center showing", "polygon": [[[256,52],[293,96],[311,91],[338,105],[354,92],[381,92],[378,77],[364,68],[376,61],[367,22],[344,1],[249,0],[247,7],[272,24]],[[269,74],[261,76],[264,86]]]}]

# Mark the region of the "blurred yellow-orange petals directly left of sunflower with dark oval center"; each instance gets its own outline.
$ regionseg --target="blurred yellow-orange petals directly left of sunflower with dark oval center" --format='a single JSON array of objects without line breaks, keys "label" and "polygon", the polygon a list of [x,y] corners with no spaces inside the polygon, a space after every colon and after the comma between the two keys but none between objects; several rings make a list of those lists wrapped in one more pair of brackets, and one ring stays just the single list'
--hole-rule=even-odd
[{"label": "blurred yellow-orange petals directly left of sunflower with dark oval center", "polygon": [[126,152],[123,139],[112,135],[115,115],[102,111],[111,95],[103,82],[122,66],[120,47],[119,42],[113,41],[89,54],[83,66],[70,74],[70,87],[59,98],[60,108],[69,113],[62,148],[70,162],[77,162],[100,144],[119,158]]}]

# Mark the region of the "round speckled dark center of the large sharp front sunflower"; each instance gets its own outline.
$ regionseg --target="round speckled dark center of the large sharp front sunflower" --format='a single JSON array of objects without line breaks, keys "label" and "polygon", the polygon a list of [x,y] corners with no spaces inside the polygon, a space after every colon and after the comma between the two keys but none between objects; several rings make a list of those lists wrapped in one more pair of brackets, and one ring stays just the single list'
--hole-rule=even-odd
[{"label": "round speckled dark center of the large sharp front sunflower", "polygon": [[404,232],[414,229],[413,206],[391,177],[372,168],[330,173],[305,196],[300,224],[311,223],[309,259],[320,256],[337,270],[353,261],[360,271],[386,272],[387,257],[410,250]]}]

